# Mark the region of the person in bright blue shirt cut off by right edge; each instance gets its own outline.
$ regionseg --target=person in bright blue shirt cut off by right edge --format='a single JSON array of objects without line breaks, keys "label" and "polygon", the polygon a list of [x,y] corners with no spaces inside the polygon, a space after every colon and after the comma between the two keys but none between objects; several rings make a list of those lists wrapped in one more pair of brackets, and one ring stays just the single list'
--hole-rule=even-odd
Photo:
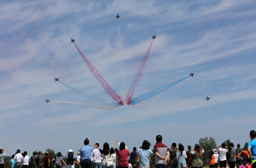
[{"label": "person in bright blue shirt cut off by right edge", "polygon": [[256,131],[250,131],[251,141],[248,144],[248,155],[251,158],[251,168],[256,168]]}]

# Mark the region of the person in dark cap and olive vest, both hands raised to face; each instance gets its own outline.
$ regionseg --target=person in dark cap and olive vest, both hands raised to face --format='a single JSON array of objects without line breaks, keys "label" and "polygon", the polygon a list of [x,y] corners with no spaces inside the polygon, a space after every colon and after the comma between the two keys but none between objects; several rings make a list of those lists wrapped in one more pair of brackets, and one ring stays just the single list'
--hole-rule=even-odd
[{"label": "person in dark cap and olive vest, both hands raised to face", "polygon": [[196,147],[190,152],[193,155],[192,167],[203,168],[203,153],[204,149],[199,144],[196,144]]}]

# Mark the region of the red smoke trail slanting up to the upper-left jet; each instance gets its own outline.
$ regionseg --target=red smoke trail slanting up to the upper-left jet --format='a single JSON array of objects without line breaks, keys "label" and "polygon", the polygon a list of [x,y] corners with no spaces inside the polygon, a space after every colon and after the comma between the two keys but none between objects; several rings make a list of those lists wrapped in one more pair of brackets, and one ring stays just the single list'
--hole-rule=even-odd
[{"label": "red smoke trail slanting up to the upper-left jet", "polygon": [[[75,44],[75,43],[74,43]],[[75,44],[76,46],[76,44]],[[85,57],[85,55],[79,50],[79,48],[76,46],[78,52],[80,53],[81,57],[83,58],[86,65],[89,67],[89,69],[92,71],[95,78],[100,82],[101,86],[106,90],[107,94],[112,97],[113,100],[120,103],[120,105],[123,105],[123,101],[120,96],[117,95],[115,90],[113,90],[109,84],[105,81],[105,79],[100,75],[100,73],[97,71],[97,69],[92,65],[92,63]]]}]

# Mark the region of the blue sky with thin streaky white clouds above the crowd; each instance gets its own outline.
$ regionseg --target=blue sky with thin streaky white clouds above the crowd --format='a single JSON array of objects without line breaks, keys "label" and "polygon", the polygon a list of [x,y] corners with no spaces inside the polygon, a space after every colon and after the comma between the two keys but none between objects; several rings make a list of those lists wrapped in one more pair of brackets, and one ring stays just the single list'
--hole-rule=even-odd
[{"label": "blue sky with thin streaky white clouds above the crowd", "polygon": [[[168,147],[206,136],[243,147],[256,119],[255,9],[252,0],[1,1],[0,148],[66,153],[87,137],[132,150],[158,134]],[[133,97],[193,78],[113,110],[44,101],[93,102],[53,78],[112,101],[71,38],[124,100],[154,34]]]}]

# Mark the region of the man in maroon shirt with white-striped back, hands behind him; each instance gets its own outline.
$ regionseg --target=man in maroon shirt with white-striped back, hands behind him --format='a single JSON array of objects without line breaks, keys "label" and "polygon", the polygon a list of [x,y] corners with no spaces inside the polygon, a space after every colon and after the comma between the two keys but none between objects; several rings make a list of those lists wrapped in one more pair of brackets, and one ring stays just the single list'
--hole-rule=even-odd
[{"label": "man in maroon shirt with white-striped back, hands behind him", "polygon": [[156,168],[166,168],[166,162],[170,156],[169,149],[162,143],[162,139],[162,136],[156,136],[156,145],[154,145]]}]

